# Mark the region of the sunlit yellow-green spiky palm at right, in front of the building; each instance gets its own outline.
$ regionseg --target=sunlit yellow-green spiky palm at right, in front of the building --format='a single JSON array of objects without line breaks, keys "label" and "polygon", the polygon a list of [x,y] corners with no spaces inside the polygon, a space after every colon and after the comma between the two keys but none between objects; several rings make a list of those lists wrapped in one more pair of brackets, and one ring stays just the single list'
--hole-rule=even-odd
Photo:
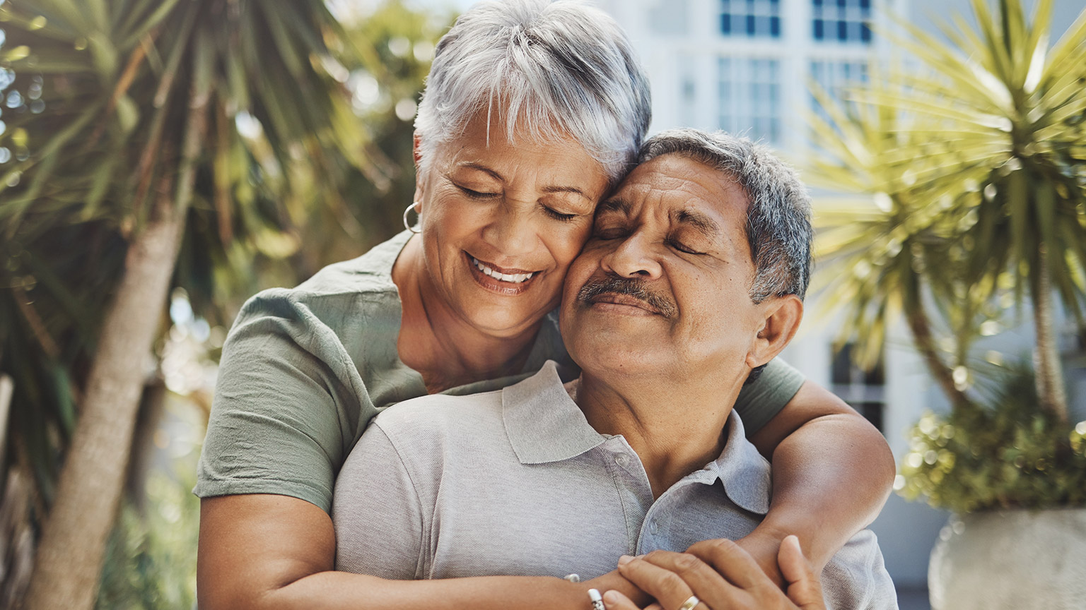
[{"label": "sunlit yellow-green spiky palm at right, in front of the building", "polygon": [[[1032,22],[1020,0],[973,10],[977,28],[946,28],[949,45],[917,29],[901,41],[925,74],[857,91],[859,110],[838,107],[819,127],[830,154],[815,173],[888,202],[826,245],[846,255],[838,285],[860,328],[904,312],[955,405],[970,404],[961,391],[978,322],[1002,309],[1002,291],[1016,305],[1027,294],[1040,407],[1066,422],[1053,292],[1082,325],[1086,11],[1050,48],[1050,0]],[[932,303],[957,335],[952,363],[936,358]]]}]

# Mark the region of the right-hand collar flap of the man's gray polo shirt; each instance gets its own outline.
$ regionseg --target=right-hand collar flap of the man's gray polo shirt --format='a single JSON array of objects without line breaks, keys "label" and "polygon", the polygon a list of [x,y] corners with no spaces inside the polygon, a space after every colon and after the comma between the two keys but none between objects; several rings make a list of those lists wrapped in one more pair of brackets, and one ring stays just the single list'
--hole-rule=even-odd
[{"label": "right-hand collar flap of the man's gray polo shirt", "polygon": [[711,484],[720,479],[733,503],[749,512],[766,514],[772,492],[769,462],[746,440],[743,420],[734,409],[728,415],[727,434],[724,450],[706,466],[710,474],[705,482]]}]

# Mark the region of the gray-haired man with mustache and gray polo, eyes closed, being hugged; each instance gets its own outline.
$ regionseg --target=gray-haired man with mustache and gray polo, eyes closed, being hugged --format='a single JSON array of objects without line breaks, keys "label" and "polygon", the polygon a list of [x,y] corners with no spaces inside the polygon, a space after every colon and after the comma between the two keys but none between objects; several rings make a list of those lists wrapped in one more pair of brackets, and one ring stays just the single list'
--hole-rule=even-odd
[{"label": "gray-haired man with mustache and gray polo, eyes closed, being hugged", "polygon": [[[548,364],[502,391],[382,412],[336,484],[338,569],[593,577],[760,522],[770,467],[732,405],[803,317],[809,202],[765,148],[722,132],[661,134],[641,161],[566,279],[580,379],[564,386]],[[619,571],[641,583],[668,561]],[[666,579],[664,607],[722,610],[727,592],[690,574]],[[896,607],[869,531],[822,580],[831,608]]]}]

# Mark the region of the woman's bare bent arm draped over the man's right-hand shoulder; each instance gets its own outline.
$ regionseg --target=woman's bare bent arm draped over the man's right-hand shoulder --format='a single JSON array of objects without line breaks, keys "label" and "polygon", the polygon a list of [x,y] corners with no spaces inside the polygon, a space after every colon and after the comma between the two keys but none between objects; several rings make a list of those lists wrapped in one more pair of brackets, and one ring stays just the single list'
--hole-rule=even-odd
[{"label": "woman's bare bent arm draped over the man's right-hand shoulder", "polygon": [[750,442],[770,458],[773,500],[737,541],[778,584],[778,549],[798,536],[817,570],[882,510],[894,484],[883,435],[841,398],[810,381]]}]

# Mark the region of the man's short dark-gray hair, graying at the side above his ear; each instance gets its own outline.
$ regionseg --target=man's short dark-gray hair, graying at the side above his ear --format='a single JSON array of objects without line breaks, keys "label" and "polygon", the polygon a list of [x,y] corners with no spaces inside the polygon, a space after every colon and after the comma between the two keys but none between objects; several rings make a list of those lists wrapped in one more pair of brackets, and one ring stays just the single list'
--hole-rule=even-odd
[{"label": "man's short dark-gray hair, graying at the side above his ear", "polygon": [[723,131],[670,129],[653,136],[640,162],[678,154],[730,175],[747,195],[746,233],[754,260],[750,300],[795,294],[811,275],[811,204],[799,176],[768,147]]}]

